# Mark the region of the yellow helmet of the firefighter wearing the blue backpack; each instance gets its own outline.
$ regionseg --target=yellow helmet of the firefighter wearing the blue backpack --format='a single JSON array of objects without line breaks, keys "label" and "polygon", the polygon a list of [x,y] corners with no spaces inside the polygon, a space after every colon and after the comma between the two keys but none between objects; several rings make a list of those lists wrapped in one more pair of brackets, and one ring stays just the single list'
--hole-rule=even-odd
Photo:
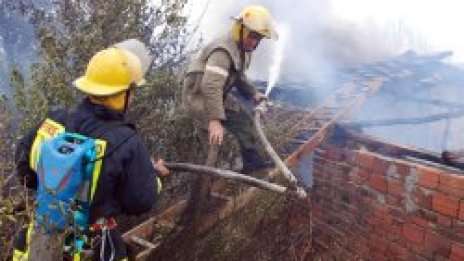
[{"label": "yellow helmet of the firefighter wearing the blue backpack", "polygon": [[144,82],[140,59],[129,51],[111,47],[90,59],[84,76],[74,85],[91,96],[112,96],[126,91],[131,84]]}]

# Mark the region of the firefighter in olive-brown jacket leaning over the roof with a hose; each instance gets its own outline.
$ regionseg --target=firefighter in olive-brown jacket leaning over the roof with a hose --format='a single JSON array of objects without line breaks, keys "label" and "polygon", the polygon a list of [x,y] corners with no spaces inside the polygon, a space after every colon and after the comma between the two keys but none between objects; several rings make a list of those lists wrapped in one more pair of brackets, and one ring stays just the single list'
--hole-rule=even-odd
[{"label": "firefighter in olive-brown jacket leaning over the roof with a hose", "polygon": [[267,164],[258,153],[252,120],[229,92],[235,86],[245,98],[255,102],[265,99],[245,75],[251,53],[263,38],[277,39],[274,21],[266,8],[248,6],[233,18],[230,31],[211,41],[190,61],[183,78],[182,102],[203,136],[208,137],[204,143],[220,145],[224,128],[232,132],[240,145],[244,173]]}]

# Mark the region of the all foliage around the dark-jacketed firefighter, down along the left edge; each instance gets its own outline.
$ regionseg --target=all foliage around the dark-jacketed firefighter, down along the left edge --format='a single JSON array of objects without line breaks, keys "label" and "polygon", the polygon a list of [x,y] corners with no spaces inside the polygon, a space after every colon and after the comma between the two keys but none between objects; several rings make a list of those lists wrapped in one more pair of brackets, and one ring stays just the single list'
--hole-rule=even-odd
[{"label": "all foliage around the dark-jacketed firefighter, down along the left edge", "polygon": [[[31,65],[29,75],[19,67],[12,68],[13,98],[0,101],[0,132],[8,133],[0,136],[4,156],[0,158],[0,242],[5,242],[0,244],[0,253],[11,253],[12,234],[27,217],[24,207],[14,211],[24,205],[27,196],[12,175],[15,144],[50,110],[73,108],[79,102],[82,97],[72,82],[84,73],[98,50],[137,38],[155,57],[147,86],[137,90],[131,113],[137,116],[131,118],[140,126],[151,152],[162,152],[157,148],[192,137],[190,124],[179,116],[180,86],[175,76],[189,37],[183,16],[187,0],[163,0],[157,6],[147,0],[62,0],[46,3],[45,8],[29,2],[2,2],[2,7],[33,24],[40,60]],[[166,153],[178,155],[175,148]]]}]

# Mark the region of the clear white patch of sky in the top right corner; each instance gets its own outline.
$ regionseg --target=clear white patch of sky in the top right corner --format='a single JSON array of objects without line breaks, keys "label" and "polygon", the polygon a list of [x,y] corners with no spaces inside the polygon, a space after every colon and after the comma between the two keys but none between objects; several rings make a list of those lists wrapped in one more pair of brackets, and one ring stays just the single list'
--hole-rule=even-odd
[{"label": "clear white patch of sky in the top right corner", "polygon": [[[365,25],[373,21],[385,30],[387,36],[391,38],[403,36],[403,41],[399,41],[402,45],[424,51],[452,49],[456,52],[454,57],[456,61],[464,60],[463,1],[332,0],[332,2],[334,15],[341,19]],[[408,33],[412,34],[413,39],[404,35]]]}]

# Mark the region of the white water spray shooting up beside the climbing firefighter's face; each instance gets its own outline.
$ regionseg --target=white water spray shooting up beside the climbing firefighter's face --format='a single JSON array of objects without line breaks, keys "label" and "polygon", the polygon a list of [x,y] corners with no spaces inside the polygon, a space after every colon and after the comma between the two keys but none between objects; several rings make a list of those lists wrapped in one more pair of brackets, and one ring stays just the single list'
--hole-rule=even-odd
[{"label": "white water spray shooting up beside the climbing firefighter's face", "polygon": [[285,44],[290,35],[290,28],[286,25],[279,25],[277,32],[279,33],[279,39],[274,45],[274,57],[272,59],[272,64],[269,67],[269,80],[266,87],[266,96],[269,96],[272,88],[274,88],[279,80],[280,69],[284,59]]}]

